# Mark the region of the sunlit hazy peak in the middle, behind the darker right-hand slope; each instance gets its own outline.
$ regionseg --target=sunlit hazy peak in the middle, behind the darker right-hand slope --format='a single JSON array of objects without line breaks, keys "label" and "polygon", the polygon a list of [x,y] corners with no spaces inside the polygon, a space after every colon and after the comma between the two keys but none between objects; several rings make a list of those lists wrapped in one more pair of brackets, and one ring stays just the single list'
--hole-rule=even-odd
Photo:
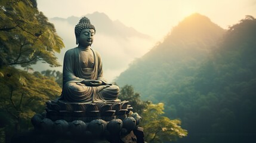
[{"label": "sunlit hazy peak in the middle, behind the darker right-hand slope", "polygon": [[224,29],[201,14],[184,18],[178,26],[143,57],[130,64],[116,79],[118,85],[133,85],[141,97],[155,102],[168,95],[168,89],[177,80],[184,80],[181,73],[192,75],[215,49]]}]

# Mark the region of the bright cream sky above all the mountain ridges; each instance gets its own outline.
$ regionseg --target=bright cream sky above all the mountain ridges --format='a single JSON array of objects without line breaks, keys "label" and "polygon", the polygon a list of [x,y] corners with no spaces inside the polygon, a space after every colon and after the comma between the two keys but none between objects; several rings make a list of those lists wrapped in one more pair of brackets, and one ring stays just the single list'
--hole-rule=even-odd
[{"label": "bright cream sky above all the mountain ridges", "polygon": [[256,0],[37,0],[48,18],[81,17],[95,11],[120,20],[141,33],[162,39],[192,13],[209,17],[227,29],[245,15],[256,17]]}]

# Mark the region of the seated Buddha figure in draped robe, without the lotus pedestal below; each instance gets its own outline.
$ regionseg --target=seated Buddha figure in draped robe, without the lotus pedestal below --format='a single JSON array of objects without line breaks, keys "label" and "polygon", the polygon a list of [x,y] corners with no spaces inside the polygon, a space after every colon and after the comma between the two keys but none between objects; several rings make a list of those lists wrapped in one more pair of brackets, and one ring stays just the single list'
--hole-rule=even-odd
[{"label": "seated Buddha figure in draped robe, without the lotus pedestal below", "polygon": [[109,102],[118,100],[119,88],[103,77],[100,54],[91,49],[95,27],[87,17],[75,26],[76,48],[64,55],[63,89],[58,101]]}]

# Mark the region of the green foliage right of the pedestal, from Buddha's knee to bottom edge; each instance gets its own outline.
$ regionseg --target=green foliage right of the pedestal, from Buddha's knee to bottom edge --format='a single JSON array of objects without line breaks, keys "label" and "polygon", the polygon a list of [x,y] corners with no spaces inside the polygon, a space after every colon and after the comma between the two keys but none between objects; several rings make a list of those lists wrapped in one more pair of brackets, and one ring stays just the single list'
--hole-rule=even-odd
[{"label": "green foliage right of the pedestal, from Buddha's knee to bottom edge", "polygon": [[165,142],[174,141],[187,135],[187,130],[179,125],[180,120],[170,120],[164,114],[164,104],[152,104],[150,101],[141,101],[140,94],[134,92],[131,85],[125,85],[121,88],[119,95],[121,100],[128,100],[141,117],[141,126],[144,128],[145,140],[147,142]]}]

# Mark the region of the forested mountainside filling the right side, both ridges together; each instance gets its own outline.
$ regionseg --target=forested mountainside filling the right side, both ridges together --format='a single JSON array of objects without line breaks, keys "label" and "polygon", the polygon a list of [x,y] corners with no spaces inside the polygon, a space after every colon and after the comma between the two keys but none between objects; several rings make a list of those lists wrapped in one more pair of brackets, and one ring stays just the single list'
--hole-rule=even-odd
[{"label": "forested mountainside filling the right side, both ridges together", "polygon": [[252,16],[225,31],[193,14],[116,81],[181,119],[189,135],[177,143],[255,142],[255,39]]}]

